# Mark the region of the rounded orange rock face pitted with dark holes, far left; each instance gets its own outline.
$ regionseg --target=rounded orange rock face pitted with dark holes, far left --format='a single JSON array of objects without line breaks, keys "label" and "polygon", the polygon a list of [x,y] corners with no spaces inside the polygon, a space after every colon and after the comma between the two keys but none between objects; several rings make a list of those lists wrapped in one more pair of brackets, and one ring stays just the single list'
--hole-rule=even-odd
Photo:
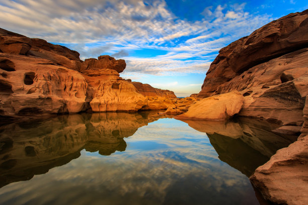
[{"label": "rounded orange rock face pitted with dark holes, far left", "polygon": [[0,53],[2,115],[76,113],[83,110],[88,83],[78,71],[54,62]]}]

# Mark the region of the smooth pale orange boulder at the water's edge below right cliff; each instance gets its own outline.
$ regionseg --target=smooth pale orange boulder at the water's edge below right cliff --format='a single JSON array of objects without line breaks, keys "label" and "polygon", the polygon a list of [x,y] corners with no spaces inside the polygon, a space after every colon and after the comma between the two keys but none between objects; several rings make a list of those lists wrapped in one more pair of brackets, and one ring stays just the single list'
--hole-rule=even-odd
[{"label": "smooth pale orange boulder at the water's edge below right cliff", "polygon": [[244,103],[244,97],[237,91],[204,98],[190,106],[187,113],[175,119],[224,121],[238,114]]}]

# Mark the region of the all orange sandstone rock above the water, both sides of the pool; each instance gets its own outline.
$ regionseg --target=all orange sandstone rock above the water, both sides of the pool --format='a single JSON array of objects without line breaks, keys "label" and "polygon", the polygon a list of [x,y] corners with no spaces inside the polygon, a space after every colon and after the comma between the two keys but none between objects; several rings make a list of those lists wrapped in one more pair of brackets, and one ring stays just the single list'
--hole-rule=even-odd
[{"label": "all orange sandstone rock above the water, both sides of the pool", "polygon": [[0,116],[166,110],[160,114],[184,122],[275,122],[272,132],[299,137],[250,180],[273,203],[308,204],[308,10],[222,48],[190,97],[125,80],[125,67],[107,55],[82,61],[66,47],[0,29]]}]

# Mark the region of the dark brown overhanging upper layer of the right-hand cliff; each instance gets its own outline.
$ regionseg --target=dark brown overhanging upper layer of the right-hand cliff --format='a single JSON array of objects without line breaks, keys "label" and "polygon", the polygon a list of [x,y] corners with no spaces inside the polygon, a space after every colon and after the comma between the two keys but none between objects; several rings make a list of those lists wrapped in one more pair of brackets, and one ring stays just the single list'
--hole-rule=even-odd
[{"label": "dark brown overhanging upper layer of the right-hand cliff", "polygon": [[206,74],[199,97],[219,94],[219,85],[244,71],[308,47],[307,27],[308,10],[282,17],[222,48]]}]

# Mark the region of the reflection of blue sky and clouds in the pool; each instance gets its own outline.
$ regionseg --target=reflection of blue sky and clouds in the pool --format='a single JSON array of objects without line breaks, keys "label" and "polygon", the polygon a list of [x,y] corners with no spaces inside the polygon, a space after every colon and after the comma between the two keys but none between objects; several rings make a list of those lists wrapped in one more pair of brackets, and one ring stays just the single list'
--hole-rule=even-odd
[{"label": "reflection of blue sky and clouds in the pool", "polygon": [[1,204],[257,204],[248,178],[221,162],[205,133],[160,119],[126,151],[85,150],[66,165],[0,189]]}]

